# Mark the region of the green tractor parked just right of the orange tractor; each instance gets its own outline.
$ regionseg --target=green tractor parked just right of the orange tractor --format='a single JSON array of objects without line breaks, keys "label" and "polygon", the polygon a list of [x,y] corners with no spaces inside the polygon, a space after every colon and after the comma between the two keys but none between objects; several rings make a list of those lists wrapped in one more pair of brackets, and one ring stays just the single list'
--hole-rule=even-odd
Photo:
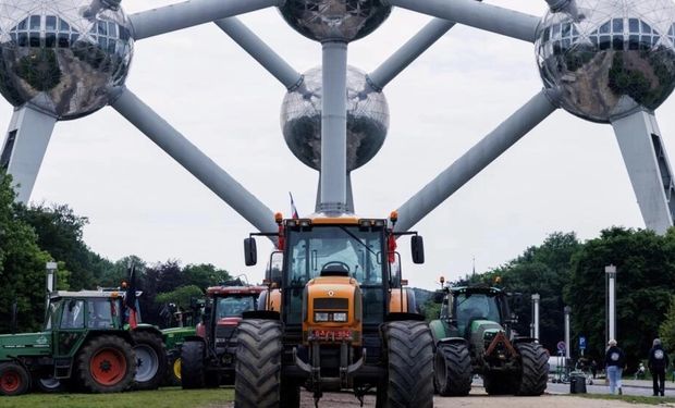
[{"label": "green tractor parked just right of the orange tractor", "polygon": [[445,287],[437,292],[440,319],[429,326],[437,351],[434,386],[443,396],[467,395],[475,374],[490,395],[537,396],[547,388],[547,350],[512,331],[508,296],[496,287]]}]

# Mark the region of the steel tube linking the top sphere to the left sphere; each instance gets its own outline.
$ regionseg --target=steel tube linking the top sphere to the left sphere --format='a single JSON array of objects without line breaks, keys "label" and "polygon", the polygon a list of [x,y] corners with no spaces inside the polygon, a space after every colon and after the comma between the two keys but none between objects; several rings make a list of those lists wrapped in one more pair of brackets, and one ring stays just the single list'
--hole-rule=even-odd
[{"label": "steel tube linking the top sphere to the left sphere", "polygon": [[188,0],[128,16],[139,40],[195,25],[279,5],[281,0]]}]

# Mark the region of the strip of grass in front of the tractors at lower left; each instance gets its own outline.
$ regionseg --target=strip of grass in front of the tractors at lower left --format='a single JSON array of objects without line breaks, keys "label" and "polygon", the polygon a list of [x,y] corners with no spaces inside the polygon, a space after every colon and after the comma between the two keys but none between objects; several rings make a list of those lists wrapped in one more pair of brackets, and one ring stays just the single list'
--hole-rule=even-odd
[{"label": "strip of grass in front of the tractors at lower left", "polygon": [[121,394],[26,394],[0,397],[2,408],[207,408],[234,399],[234,391],[179,387]]}]

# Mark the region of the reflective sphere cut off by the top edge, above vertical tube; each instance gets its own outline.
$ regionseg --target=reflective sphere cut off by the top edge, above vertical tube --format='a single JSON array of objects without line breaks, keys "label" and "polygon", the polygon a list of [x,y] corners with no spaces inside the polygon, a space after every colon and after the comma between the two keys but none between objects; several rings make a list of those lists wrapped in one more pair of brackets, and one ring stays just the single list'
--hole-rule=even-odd
[{"label": "reflective sphere cut off by the top edge, above vertical tube", "polygon": [[391,13],[380,0],[286,0],[279,10],[293,28],[317,41],[359,39]]}]

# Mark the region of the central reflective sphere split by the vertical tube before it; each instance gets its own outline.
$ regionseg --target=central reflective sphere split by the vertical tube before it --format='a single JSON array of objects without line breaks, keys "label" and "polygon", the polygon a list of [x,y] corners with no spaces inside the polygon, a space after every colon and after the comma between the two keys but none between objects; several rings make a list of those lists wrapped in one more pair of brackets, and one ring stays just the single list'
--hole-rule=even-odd
[{"label": "central reflective sphere split by the vertical tube before it", "polygon": [[[309,70],[298,89],[286,94],[281,127],[293,154],[308,166],[321,169],[321,69]],[[347,171],[372,159],[389,131],[389,104],[382,92],[372,90],[366,73],[347,71]]]}]

